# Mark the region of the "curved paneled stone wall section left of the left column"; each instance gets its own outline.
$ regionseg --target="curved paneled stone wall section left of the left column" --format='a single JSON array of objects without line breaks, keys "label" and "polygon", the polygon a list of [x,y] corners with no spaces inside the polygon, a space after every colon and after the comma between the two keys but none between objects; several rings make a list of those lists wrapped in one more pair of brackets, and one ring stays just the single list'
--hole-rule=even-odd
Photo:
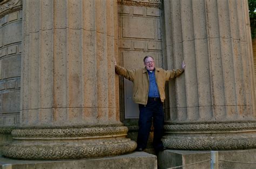
[{"label": "curved paneled stone wall section left of the left column", "polygon": [[0,126],[19,123],[22,11],[0,19]]}]

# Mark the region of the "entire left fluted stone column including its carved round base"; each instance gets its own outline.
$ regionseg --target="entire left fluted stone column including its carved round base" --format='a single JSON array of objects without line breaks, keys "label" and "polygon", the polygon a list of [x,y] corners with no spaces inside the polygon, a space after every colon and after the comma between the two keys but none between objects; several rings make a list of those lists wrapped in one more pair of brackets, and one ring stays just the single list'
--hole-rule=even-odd
[{"label": "entire left fluted stone column including its carved round base", "polygon": [[136,149],[119,121],[116,1],[23,1],[21,129],[4,156],[71,159]]}]

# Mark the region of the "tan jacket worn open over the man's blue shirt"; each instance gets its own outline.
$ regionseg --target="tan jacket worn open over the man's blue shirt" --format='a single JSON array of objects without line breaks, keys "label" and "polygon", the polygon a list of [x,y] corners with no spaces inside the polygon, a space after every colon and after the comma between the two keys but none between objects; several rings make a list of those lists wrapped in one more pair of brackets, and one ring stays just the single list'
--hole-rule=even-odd
[{"label": "tan jacket worn open over the man's blue shirt", "polygon": [[[146,105],[147,96],[149,95],[149,75],[147,74],[146,67],[129,70],[116,65],[115,69],[117,74],[124,76],[124,78],[133,82],[133,101],[135,103]],[[156,76],[157,87],[162,102],[165,100],[165,81],[169,81],[183,72],[184,69],[173,69],[172,71],[166,71],[161,68],[155,68],[154,74]]]}]

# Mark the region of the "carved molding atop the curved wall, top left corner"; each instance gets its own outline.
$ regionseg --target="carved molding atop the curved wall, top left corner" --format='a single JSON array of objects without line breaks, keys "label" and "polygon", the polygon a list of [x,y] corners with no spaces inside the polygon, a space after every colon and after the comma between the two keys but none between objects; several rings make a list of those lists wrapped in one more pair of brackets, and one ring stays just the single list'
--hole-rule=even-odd
[{"label": "carved molding atop the curved wall, top left corner", "polygon": [[0,18],[19,10],[22,10],[22,0],[4,0],[0,2]]}]

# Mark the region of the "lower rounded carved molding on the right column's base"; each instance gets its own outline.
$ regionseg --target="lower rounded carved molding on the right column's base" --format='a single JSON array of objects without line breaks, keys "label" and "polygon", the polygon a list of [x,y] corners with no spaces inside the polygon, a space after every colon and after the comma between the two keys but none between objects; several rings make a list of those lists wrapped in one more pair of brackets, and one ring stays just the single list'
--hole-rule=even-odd
[{"label": "lower rounded carved molding on the right column's base", "polygon": [[255,149],[256,137],[190,137],[165,136],[163,143],[169,149],[179,150],[237,150]]}]

